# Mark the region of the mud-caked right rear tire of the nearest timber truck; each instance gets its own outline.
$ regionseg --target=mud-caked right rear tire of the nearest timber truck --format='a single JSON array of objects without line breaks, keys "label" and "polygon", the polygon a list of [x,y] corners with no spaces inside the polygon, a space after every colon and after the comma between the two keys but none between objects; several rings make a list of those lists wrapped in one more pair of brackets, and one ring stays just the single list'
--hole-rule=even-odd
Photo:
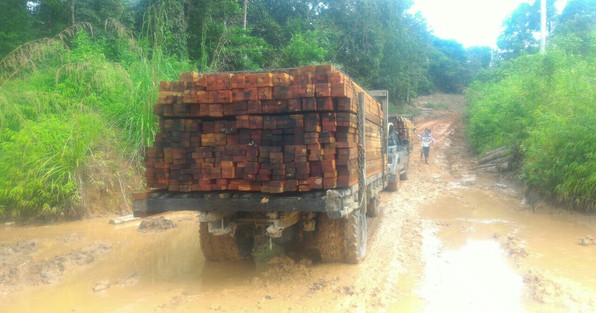
[{"label": "mud-caked right rear tire of the nearest timber truck", "polygon": [[345,218],[319,215],[316,241],[323,262],[359,263],[367,253],[367,217],[355,210]]}]

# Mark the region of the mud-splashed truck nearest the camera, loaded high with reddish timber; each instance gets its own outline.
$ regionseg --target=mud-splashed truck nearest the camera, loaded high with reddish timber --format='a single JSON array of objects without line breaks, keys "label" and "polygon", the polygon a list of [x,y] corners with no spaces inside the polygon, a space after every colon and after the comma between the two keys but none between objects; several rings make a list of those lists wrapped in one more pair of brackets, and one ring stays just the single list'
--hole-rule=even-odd
[{"label": "mud-splashed truck nearest the camera, loaded high with reddish timber", "polygon": [[381,190],[408,178],[399,130],[411,124],[390,122],[387,91],[364,91],[333,66],[182,73],[162,82],[154,113],[151,190],[133,194],[134,215],[198,211],[210,261],[248,258],[268,235],[309,238],[323,262],[361,262]]}]

